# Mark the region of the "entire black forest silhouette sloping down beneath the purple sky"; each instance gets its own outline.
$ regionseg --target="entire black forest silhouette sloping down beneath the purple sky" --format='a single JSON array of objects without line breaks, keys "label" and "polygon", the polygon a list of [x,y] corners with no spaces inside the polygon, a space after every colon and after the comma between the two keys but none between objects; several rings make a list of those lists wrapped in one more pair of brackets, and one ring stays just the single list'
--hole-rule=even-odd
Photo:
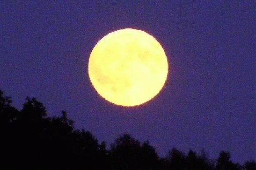
[{"label": "entire black forest silhouette sloping down beneath the purple sky", "polygon": [[217,160],[189,150],[188,155],[173,148],[159,157],[148,141],[130,134],[119,136],[106,149],[106,143],[84,129],[74,129],[66,111],[60,117],[47,117],[44,105],[26,98],[23,109],[11,106],[0,90],[0,168],[1,169],[165,169],[165,170],[255,170],[255,160],[240,165],[227,151]]}]

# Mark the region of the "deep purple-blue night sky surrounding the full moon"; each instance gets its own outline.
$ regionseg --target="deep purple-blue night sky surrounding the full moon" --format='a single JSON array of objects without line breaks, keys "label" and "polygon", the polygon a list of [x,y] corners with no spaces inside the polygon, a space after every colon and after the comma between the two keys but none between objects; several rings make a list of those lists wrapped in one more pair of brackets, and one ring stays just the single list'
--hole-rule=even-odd
[{"label": "deep purple-blue night sky surrounding the full moon", "polygon": [[[47,116],[67,111],[75,129],[107,146],[123,133],[149,140],[159,156],[176,147],[234,163],[256,159],[254,0],[81,0],[0,2],[0,89]],[[88,76],[95,44],[122,28],[160,42],[169,72],[161,92],[136,107],[103,99]]]}]

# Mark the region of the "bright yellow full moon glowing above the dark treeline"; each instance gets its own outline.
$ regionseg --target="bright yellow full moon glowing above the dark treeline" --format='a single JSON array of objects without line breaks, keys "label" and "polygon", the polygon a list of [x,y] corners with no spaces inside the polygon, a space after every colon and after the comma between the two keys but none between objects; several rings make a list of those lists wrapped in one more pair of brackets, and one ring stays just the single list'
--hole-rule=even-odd
[{"label": "bright yellow full moon glowing above the dark treeline", "polygon": [[98,41],[89,57],[88,73],[107,101],[135,106],[160,92],[167,79],[168,61],[153,36],[126,28]]}]

